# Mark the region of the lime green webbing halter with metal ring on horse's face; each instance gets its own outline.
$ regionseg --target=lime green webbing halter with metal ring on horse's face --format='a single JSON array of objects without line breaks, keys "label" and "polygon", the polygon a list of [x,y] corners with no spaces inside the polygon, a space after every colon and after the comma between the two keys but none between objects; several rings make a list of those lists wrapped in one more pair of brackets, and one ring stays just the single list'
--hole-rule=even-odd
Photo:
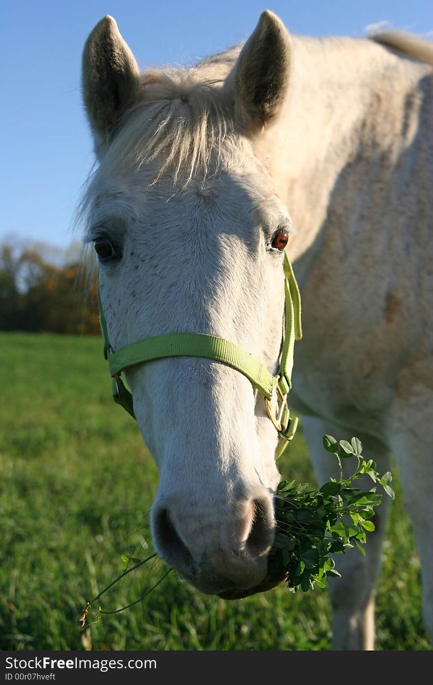
[{"label": "lime green webbing halter with metal ring on horse's face", "polygon": [[[298,425],[298,418],[290,416],[287,394],[291,388],[294,342],[302,338],[300,292],[287,253],[284,254],[284,274],[285,330],[280,368],[275,376],[267,371],[261,362],[235,343],[205,333],[168,333],[153,338],[144,338],[144,340],[126,345],[114,352],[109,344],[107,323],[98,291],[99,318],[104,338],[104,357],[108,360],[109,372],[113,377],[114,401],[126,409],[135,419],[132,395],[125,388],[120,378],[122,371],[134,364],[143,364],[165,357],[205,357],[222,362],[222,364],[227,364],[243,373],[250,380],[252,386],[257,388],[265,398],[267,415],[280,436],[275,453],[275,458],[278,459],[287,447],[287,440],[293,438]],[[276,395],[276,412],[272,410],[274,395]]]}]

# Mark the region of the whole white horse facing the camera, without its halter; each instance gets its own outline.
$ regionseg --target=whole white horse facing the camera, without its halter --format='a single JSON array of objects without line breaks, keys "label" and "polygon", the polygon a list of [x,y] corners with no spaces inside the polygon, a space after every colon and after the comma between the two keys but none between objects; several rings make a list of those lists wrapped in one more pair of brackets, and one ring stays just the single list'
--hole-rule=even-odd
[{"label": "whole white horse facing the camera, without its halter", "polygon": [[[86,42],[83,95],[100,163],[84,200],[86,239],[99,255],[111,345],[214,334],[275,373],[292,233],[304,338],[291,408],[304,416],[322,482],[323,434],[359,436],[381,472],[395,454],[432,631],[427,62],[432,46],[413,36],[290,38],[263,12],[243,46],[191,69],[140,73],[106,16]],[[205,593],[268,588],[279,475],[263,397],[238,371],[202,358],[137,364],[126,377],[160,471],[151,514],[159,555]],[[384,502],[367,556],[339,561],[343,578],[330,588],[337,649],[373,648],[385,519]]]}]

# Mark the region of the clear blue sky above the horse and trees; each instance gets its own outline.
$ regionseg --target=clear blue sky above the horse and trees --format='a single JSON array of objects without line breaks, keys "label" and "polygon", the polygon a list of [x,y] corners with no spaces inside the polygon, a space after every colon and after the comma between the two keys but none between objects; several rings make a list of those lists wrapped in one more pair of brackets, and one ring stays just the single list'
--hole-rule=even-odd
[{"label": "clear blue sky above the horse and trees", "polygon": [[3,0],[0,240],[67,247],[94,162],[81,104],[81,50],[105,14],[138,64],[187,63],[246,40],[263,9],[293,33],[363,36],[371,23],[433,38],[432,0]]}]

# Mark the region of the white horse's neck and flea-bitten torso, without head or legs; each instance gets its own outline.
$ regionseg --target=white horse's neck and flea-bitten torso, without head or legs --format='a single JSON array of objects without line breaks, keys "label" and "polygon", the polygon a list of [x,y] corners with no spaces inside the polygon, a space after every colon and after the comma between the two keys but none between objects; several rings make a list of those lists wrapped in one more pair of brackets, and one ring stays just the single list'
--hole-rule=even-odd
[{"label": "white horse's neck and flea-bitten torso, without head or legs", "polygon": [[[409,385],[432,378],[431,67],[366,40],[314,43],[293,47],[308,62],[298,88],[294,69],[287,125],[304,302],[293,395],[389,441],[387,412],[408,375]],[[328,79],[310,88],[304,74],[324,55]]]}]

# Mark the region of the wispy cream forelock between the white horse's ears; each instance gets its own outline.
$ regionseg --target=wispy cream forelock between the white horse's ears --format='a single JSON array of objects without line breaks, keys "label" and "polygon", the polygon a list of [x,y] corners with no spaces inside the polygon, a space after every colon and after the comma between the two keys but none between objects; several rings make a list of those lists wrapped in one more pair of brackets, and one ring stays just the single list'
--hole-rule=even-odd
[{"label": "wispy cream forelock between the white horse's ears", "polygon": [[195,69],[158,69],[142,73],[142,93],[120,122],[104,159],[139,171],[158,158],[157,181],[170,169],[174,183],[187,184],[196,173],[209,173],[220,160],[222,142],[235,126],[220,79],[200,77]]}]

